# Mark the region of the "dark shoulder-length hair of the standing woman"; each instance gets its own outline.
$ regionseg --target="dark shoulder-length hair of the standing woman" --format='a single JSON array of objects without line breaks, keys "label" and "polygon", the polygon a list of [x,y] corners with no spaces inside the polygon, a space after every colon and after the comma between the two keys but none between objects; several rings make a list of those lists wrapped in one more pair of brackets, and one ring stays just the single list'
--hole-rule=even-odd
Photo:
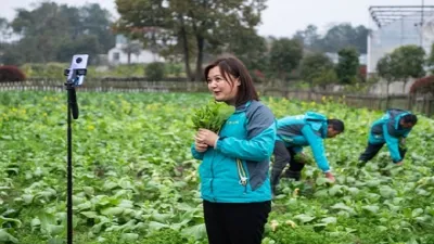
[{"label": "dark shoulder-length hair of the standing woman", "polygon": [[[232,87],[234,85],[234,80],[231,80],[229,75],[232,75],[235,78],[239,78],[240,86],[238,88],[238,94],[235,100],[235,105],[242,105],[251,100],[259,101],[259,95],[256,92],[256,89],[253,85],[253,80],[251,75],[248,74],[247,68],[244,64],[234,56],[226,56],[219,57],[208,66],[205,67],[205,79],[208,78],[208,73],[212,68],[218,66],[220,68],[220,73],[224,76],[225,80],[229,82]],[[228,75],[229,74],[229,75]]]}]

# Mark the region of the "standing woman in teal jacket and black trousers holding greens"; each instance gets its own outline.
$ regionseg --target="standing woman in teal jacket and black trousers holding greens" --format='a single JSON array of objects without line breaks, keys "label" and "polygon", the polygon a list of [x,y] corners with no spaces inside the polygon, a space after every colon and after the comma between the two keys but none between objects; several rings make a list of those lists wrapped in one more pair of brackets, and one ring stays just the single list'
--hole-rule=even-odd
[{"label": "standing woman in teal jacket and black trousers holding greens", "polygon": [[235,107],[218,134],[200,129],[192,154],[199,169],[210,244],[260,244],[271,210],[268,176],[276,119],[259,102],[251,76],[235,57],[205,68],[216,101]]}]

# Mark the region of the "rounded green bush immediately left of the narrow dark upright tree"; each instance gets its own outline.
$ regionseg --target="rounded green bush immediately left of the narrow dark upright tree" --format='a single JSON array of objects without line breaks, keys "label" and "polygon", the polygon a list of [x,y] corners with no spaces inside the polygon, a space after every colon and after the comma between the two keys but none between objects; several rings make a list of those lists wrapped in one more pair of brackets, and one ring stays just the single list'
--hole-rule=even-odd
[{"label": "rounded green bush immediately left of the narrow dark upright tree", "polygon": [[307,54],[301,64],[302,78],[314,86],[326,87],[337,80],[333,62],[323,53]]}]

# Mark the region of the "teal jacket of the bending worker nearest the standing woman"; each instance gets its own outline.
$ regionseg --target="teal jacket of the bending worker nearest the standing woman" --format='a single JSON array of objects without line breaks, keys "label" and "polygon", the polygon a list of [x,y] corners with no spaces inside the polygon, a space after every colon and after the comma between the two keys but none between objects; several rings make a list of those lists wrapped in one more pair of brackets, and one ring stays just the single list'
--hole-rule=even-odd
[{"label": "teal jacket of the bending worker nearest the standing woman", "polygon": [[286,147],[296,153],[302,152],[303,146],[310,145],[318,167],[327,172],[330,170],[323,144],[327,131],[327,117],[319,113],[307,112],[304,115],[279,119],[277,140],[283,141]]}]

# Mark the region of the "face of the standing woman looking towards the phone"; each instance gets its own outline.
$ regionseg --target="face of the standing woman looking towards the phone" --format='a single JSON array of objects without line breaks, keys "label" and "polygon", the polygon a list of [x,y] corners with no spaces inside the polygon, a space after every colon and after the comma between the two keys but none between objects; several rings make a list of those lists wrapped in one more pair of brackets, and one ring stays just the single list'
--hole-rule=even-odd
[{"label": "face of the standing woman looking towards the phone", "polygon": [[213,67],[208,72],[208,77],[206,77],[208,89],[210,92],[213,92],[216,101],[226,102],[230,105],[235,105],[240,80],[235,79],[230,74],[227,74],[227,77],[231,80],[225,79],[218,66]]}]

